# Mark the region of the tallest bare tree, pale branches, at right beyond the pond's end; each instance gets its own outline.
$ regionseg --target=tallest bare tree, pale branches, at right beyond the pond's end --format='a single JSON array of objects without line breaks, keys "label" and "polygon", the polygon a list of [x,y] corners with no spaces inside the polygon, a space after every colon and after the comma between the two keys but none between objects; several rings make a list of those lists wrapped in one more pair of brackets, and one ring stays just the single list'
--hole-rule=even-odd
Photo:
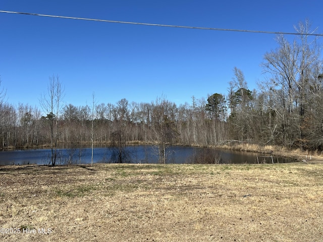
[{"label": "tallest bare tree, pale branches, at right beyond the pond's end", "polygon": [[278,117],[276,130],[282,134],[283,145],[298,144],[302,148],[307,143],[305,112],[314,110],[307,100],[313,100],[311,83],[317,83],[321,60],[317,37],[309,35],[315,32],[309,21],[300,22],[295,29],[299,35],[292,43],[283,35],[277,36],[279,47],[264,55],[262,67],[265,73],[272,75],[265,85],[275,101],[268,108]]}]

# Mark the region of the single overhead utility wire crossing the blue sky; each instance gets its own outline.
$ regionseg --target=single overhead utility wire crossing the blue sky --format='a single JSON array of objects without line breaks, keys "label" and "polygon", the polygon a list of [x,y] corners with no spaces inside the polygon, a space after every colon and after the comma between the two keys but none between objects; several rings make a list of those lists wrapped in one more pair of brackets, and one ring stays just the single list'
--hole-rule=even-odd
[{"label": "single overhead utility wire crossing the blue sky", "polygon": [[[263,33],[263,34],[293,34],[293,35],[304,35],[302,33],[290,33],[290,32],[271,32],[271,31],[242,30],[242,29],[220,29],[220,28],[178,26],[178,25],[167,25],[167,24],[149,24],[149,23],[138,23],[138,22],[125,22],[125,21],[102,20],[102,19],[88,19],[88,18],[77,18],[77,17],[67,17],[67,16],[55,16],[55,15],[45,15],[45,14],[33,14],[33,13],[23,13],[23,12],[12,12],[12,11],[3,11],[3,10],[0,10],[0,13],[7,13],[7,14],[25,14],[25,15],[34,15],[34,16],[50,17],[50,18],[76,19],[76,20],[87,20],[87,21],[107,22],[107,23],[136,24],[136,25],[171,27],[171,28],[183,28],[183,29],[202,29],[202,30],[217,30],[217,31],[234,31],[234,32]],[[323,34],[306,34],[306,35],[323,36]]]}]

